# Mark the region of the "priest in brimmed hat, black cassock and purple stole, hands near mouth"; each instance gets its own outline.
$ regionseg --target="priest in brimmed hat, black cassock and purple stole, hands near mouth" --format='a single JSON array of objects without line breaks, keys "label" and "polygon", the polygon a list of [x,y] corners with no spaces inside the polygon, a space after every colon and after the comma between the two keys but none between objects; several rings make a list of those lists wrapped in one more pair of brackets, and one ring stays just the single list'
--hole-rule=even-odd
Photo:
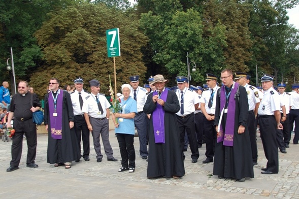
[{"label": "priest in brimmed hat, black cassock and purple stole, hands near mouth", "polygon": [[180,178],[185,175],[176,113],[180,104],[175,92],[165,89],[162,75],[154,77],[156,91],[148,94],[144,112],[151,114],[147,178]]}]

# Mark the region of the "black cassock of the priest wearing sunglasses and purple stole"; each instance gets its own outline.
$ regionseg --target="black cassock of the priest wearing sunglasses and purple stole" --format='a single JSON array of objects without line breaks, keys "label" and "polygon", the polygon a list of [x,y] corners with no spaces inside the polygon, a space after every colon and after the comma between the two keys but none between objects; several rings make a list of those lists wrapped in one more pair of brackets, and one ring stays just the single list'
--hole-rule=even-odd
[{"label": "black cassock of the priest wearing sunglasses and purple stole", "polygon": [[47,162],[72,162],[73,160],[80,159],[80,149],[78,146],[75,129],[70,129],[70,121],[74,121],[74,111],[71,101],[71,96],[67,91],[63,91],[62,100],[62,139],[56,140],[51,137],[51,123],[49,116],[49,102],[47,93],[45,96],[45,124],[48,126],[48,150]]}]

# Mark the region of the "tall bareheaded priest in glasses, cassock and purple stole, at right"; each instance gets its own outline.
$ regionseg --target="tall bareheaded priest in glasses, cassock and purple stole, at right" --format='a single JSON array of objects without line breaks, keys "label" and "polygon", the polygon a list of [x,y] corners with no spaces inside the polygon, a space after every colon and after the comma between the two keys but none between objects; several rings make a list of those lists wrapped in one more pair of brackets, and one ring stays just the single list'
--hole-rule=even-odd
[{"label": "tall bareheaded priest in glasses, cassock and purple stole, at right", "polygon": [[247,127],[248,99],[243,86],[232,80],[232,72],[221,72],[223,86],[216,97],[217,141],[213,175],[244,182],[253,178],[252,153]]}]

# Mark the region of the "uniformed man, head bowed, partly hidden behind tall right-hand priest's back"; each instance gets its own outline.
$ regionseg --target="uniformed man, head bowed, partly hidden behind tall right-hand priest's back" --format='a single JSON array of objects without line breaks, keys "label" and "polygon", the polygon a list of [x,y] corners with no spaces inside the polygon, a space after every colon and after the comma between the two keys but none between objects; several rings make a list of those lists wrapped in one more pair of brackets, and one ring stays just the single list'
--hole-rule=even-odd
[{"label": "uniformed man, head bowed, partly hidden behind tall right-hand priest's back", "polygon": [[248,75],[246,73],[237,72],[235,73],[235,81],[241,86],[244,86],[247,92],[249,112],[247,118],[247,126],[250,136],[251,151],[252,151],[252,161],[253,165],[257,164],[257,144],[256,144],[256,116],[257,109],[259,107],[259,95],[258,89],[254,86],[248,85]]}]

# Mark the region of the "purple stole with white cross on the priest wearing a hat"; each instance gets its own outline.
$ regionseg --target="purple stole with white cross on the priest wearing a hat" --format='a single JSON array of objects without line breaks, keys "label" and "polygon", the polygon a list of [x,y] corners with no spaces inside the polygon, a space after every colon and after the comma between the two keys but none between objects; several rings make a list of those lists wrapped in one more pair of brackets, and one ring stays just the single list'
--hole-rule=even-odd
[{"label": "purple stole with white cross on the priest wearing a hat", "polygon": [[[168,90],[164,89],[161,92],[160,99],[166,102],[167,100]],[[153,96],[158,95],[157,91],[153,92]],[[165,124],[164,124],[164,115],[165,111],[161,105],[157,103],[157,107],[152,113],[153,117],[153,126],[154,126],[154,136],[155,136],[155,143],[163,143],[165,144]]]}]

